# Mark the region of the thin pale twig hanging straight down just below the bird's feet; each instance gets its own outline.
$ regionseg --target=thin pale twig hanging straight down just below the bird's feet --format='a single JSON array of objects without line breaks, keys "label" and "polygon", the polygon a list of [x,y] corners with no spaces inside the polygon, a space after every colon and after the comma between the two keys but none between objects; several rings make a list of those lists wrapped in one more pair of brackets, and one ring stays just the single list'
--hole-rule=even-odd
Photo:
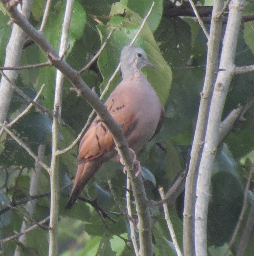
[{"label": "thin pale twig hanging straight down just below the bird's feet", "polygon": [[[131,216],[131,218],[132,218],[131,193],[130,193],[131,182],[130,182],[130,179],[128,178],[128,174],[127,174],[127,178],[126,178],[126,188],[127,188],[126,189],[126,208],[127,208],[128,215]],[[139,255],[139,246],[138,246],[137,239],[136,239],[135,225],[131,221],[129,221],[129,224],[130,224],[131,240],[132,240],[133,249],[134,249],[136,256],[138,256]]]}]

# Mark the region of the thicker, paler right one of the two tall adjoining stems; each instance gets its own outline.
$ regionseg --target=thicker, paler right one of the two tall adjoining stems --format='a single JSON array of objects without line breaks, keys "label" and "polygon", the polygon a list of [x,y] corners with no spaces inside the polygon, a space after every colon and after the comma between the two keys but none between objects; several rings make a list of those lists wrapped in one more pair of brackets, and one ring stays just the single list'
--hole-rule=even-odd
[{"label": "thicker, paler right one of the two tall adjoining stems", "polygon": [[199,166],[196,205],[195,205],[195,251],[196,255],[207,255],[207,213],[210,198],[210,180],[219,139],[219,126],[225,105],[227,92],[234,70],[237,38],[244,8],[244,0],[232,0],[229,6],[229,17],[225,37],[223,39],[218,73],[210,104],[208,124]]}]

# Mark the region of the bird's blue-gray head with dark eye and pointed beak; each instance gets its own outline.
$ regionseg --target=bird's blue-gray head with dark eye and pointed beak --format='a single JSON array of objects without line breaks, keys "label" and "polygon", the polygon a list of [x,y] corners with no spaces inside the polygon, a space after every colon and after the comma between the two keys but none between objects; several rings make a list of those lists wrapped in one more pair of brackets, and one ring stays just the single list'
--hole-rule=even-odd
[{"label": "bird's blue-gray head with dark eye and pointed beak", "polygon": [[121,52],[121,71],[123,75],[123,79],[130,76],[135,69],[140,69],[143,66],[151,66],[153,64],[148,60],[146,52],[134,45],[125,46]]}]

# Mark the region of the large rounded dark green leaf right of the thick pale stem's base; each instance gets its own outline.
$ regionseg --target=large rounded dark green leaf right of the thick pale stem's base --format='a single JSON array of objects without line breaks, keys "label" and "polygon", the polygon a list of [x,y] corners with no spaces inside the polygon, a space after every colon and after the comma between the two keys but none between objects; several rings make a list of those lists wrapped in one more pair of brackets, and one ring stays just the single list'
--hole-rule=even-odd
[{"label": "large rounded dark green leaf right of the thick pale stem's base", "polygon": [[209,244],[221,246],[230,240],[243,205],[243,186],[228,171],[212,176],[208,208]]}]

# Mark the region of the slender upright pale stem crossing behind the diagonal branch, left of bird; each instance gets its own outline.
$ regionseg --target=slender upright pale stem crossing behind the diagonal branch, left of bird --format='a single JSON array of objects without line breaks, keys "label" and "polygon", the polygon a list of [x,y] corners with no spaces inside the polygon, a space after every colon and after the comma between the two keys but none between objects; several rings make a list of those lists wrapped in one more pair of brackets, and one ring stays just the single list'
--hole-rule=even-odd
[{"label": "slender upright pale stem crossing behind the diagonal branch, left of bird", "polygon": [[[74,0],[69,0],[66,3],[65,17],[63,20],[62,35],[59,48],[59,56],[62,56],[67,48],[70,21],[72,18]],[[50,222],[51,230],[49,231],[49,256],[56,256],[58,253],[58,207],[59,207],[59,174],[58,165],[59,158],[56,154],[59,148],[59,134],[61,126],[62,112],[62,91],[63,91],[64,75],[57,70],[56,72],[56,89],[54,100],[54,111],[56,115],[53,117],[52,124],[52,158],[51,158],[51,207],[50,207]]]}]

